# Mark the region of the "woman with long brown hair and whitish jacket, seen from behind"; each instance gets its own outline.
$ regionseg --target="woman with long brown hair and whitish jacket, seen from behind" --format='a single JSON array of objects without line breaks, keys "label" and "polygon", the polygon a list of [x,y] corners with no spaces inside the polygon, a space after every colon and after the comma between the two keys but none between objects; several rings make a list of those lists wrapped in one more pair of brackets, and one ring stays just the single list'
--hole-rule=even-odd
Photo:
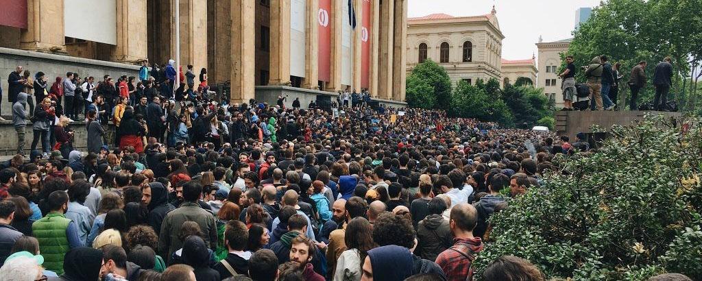
[{"label": "woman with long brown hair and whitish jacket, seen from behind", "polygon": [[376,242],[373,242],[371,223],[363,217],[352,218],[346,226],[344,242],[347,250],[336,261],[333,280],[361,280],[361,268],[368,251],[377,247]]}]

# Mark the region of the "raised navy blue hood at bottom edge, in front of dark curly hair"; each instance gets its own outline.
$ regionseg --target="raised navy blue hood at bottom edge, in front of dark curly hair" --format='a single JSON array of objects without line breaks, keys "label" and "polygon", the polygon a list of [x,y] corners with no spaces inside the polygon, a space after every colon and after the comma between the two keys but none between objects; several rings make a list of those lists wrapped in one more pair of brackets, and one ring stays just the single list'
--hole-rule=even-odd
[{"label": "raised navy blue hood at bottom edge, in front of dark curly hair", "polygon": [[412,253],[405,247],[388,245],[368,251],[373,280],[402,281],[412,275]]}]

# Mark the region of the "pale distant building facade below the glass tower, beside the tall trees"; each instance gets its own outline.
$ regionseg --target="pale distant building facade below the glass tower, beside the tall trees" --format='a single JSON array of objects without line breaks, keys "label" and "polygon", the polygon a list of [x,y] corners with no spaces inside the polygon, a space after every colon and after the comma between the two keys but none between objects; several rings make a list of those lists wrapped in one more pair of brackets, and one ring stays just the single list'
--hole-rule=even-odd
[{"label": "pale distant building facade below the glass tower, beside the tall trees", "polygon": [[567,53],[572,39],[553,42],[539,42],[538,48],[538,79],[536,86],[543,88],[543,93],[554,101],[556,107],[563,107],[561,91],[562,79],[558,78],[558,69],[562,63],[561,54]]}]

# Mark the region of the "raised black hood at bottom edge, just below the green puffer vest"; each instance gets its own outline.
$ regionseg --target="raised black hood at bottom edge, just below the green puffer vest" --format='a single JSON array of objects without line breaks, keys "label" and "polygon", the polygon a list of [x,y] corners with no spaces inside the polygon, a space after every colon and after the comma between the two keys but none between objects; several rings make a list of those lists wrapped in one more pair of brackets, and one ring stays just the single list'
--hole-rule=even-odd
[{"label": "raised black hood at bottom edge, just below the green puffer vest", "polygon": [[88,247],[70,249],[63,259],[60,280],[98,280],[102,267],[102,251]]}]

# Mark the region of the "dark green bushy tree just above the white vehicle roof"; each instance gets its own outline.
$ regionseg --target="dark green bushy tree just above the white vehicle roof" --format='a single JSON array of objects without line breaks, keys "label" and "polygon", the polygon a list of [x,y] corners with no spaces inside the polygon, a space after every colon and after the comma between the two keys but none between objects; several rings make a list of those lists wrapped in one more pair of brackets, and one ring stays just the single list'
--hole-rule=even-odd
[{"label": "dark green bushy tree just above the white vehicle roof", "polygon": [[552,116],[543,89],[506,85],[501,91],[501,98],[510,107],[517,128],[529,129],[536,125],[539,119]]}]

